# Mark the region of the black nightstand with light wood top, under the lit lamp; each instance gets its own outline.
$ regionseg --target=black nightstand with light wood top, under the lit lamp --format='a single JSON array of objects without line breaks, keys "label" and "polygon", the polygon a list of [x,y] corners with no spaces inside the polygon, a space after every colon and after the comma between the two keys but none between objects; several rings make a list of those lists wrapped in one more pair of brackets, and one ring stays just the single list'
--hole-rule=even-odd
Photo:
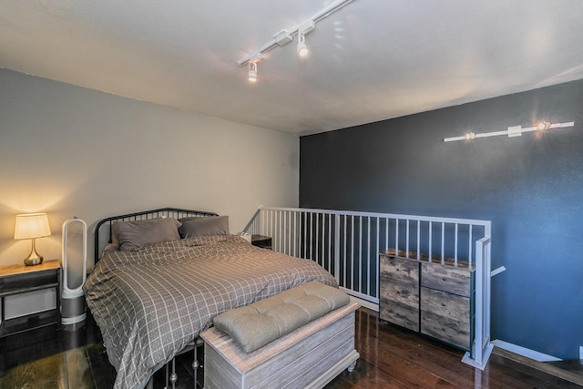
[{"label": "black nightstand with light wood top, under the lit lamp", "polygon": [[[59,323],[61,261],[44,261],[40,265],[10,265],[0,267],[0,338]],[[5,297],[15,294],[53,289],[56,308],[5,320]]]}]

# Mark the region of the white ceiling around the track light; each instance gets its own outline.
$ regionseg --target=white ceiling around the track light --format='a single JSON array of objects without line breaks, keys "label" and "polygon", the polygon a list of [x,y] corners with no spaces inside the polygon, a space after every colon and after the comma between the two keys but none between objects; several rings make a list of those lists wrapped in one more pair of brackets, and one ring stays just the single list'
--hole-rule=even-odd
[{"label": "white ceiling around the track light", "polygon": [[0,67],[295,134],[583,78],[581,0],[0,0]]}]

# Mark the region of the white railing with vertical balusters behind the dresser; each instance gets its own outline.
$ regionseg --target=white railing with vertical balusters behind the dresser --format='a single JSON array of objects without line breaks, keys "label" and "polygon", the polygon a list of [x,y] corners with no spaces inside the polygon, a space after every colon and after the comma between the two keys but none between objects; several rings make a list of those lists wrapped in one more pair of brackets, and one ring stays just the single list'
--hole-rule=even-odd
[{"label": "white railing with vertical balusters behind the dresser", "polygon": [[270,236],[274,251],[316,261],[343,291],[376,310],[379,251],[394,248],[412,257],[424,253],[429,261],[468,261],[476,269],[476,342],[465,362],[486,365],[491,351],[489,220],[260,208],[244,231]]}]

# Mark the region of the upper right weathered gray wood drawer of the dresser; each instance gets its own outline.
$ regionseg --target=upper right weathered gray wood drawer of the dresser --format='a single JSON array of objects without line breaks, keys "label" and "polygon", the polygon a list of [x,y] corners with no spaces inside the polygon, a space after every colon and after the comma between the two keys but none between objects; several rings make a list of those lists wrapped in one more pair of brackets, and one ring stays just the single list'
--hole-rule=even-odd
[{"label": "upper right weathered gray wood drawer of the dresser", "polygon": [[421,285],[443,292],[469,297],[474,271],[444,266],[438,263],[421,264]]}]

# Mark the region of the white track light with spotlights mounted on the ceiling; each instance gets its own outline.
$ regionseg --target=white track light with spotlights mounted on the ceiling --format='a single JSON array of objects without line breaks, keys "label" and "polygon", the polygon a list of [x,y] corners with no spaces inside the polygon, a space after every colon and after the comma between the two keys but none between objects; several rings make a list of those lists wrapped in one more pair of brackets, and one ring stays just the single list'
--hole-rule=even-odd
[{"label": "white track light with spotlights mounted on the ceiling", "polygon": [[298,55],[306,56],[308,54],[308,46],[306,46],[305,35],[314,29],[316,23],[332,15],[334,12],[339,11],[344,7],[344,5],[348,5],[353,1],[354,0],[337,0],[295,28],[292,28],[291,30],[282,29],[280,32],[273,36],[273,39],[271,39],[270,42],[261,46],[261,48],[254,54],[251,56],[245,56],[237,61],[237,65],[242,67],[249,64],[249,80],[256,81],[257,62],[259,58],[261,58],[261,54],[270,51],[274,47],[287,45],[288,43],[292,42],[293,36],[296,35],[298,36],[298,44],[296,46]]}]

